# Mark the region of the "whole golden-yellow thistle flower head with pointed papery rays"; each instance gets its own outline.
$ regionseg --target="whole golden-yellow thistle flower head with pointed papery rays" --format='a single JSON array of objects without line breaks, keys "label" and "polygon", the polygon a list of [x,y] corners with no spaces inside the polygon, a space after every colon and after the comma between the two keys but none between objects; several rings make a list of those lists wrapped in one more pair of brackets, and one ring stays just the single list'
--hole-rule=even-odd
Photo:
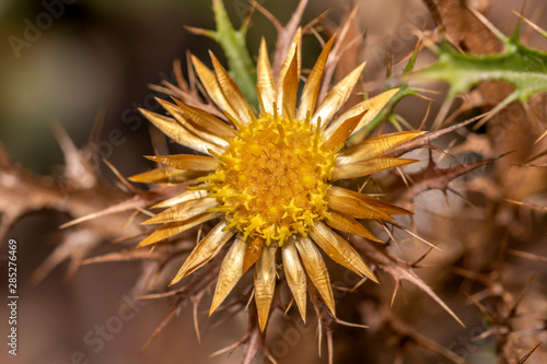
[{"label": "whole golden-yellow thistle flower head with pointed papery rays", "polygon": [[336,117],[352,93],[364,63],[318,103],[322,77],[333,45],[330,39],[309,74],[296,107],[300,43],[299,31],[275,80],[263,39],[257,62],[260,104],[257,115],[212,54],[214,71],[194,57],[194,68],[207,96],[228,119],[221,120],[177,99],[176,105],[161,102],[172,117],[141,110],[166,136],[207,156],[151,156],[149,158],[166,167],[131,178],[153,184],[197,183],[184,193],[155,206],[167,209],[144,223],[163,225],[139,246],[220,219],[194,248],[172,284],[203,267],[230,244],[210,313],[255,265],[255,302],[261,330],[276,286],[278,255],[304,320],[306,275],[335,315],[329,277],[318,248],[347,269],[376,281],[361,256],[331,228],[377,240],[356,219],[389,221],[391,215],[409,212],[364,193],[333,186],[330,181],[362,177],[414,162],[381,155],[420,134],[411,131],[386,134],[344,149],[353,130],[372,120],[397,90],[357,104]]}]

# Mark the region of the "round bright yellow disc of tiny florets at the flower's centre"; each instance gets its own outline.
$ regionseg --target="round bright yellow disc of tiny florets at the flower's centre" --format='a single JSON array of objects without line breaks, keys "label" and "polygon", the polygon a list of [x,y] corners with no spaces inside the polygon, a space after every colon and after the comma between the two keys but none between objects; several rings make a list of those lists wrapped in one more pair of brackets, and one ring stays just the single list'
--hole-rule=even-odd
[{"label": "round bright yellow disc of tiny florets at the flower's centre", "polygon": [[282,245],[293,234],[306,236],[314,221],[328,216],[325,183],[335,153],[324,151],[323,142],[310,119],[263,114],[242,126],[209,180],[210,196],[219,199],[213,210],[245,238]]}]

